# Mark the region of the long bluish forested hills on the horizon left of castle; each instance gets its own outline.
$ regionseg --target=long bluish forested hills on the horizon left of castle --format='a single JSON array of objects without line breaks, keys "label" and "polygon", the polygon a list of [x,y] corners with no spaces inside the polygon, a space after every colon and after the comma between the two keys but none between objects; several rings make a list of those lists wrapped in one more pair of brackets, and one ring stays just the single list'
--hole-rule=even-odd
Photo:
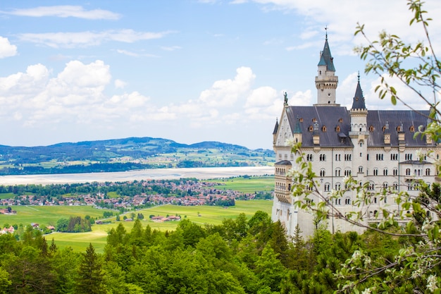
[{"label": "long bluish forested hills on the horizon left of castle", "polygon": [[269,149],[223,142],[191,145],[154,137],[64,142],[37,147],[0,145],[0,175],[89,173],[170,167],[264,166]]}]

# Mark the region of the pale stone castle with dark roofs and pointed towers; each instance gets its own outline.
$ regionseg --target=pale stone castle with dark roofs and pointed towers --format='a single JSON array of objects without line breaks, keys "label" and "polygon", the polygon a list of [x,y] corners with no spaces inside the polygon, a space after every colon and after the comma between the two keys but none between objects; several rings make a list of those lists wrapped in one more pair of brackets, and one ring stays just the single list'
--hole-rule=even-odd
[{"label": "pale stone castle with dark roofs and pointed towers", "polygon": [[[433,159],[424,155],[433,151],[435,157],[439,157],[440,147],[429,136],[414,137],[420,125],[428,124],[428,110],[368,110],[360,80],[348,110],[336,103],[337,84],[326,34],[316,76],[317,103],[289,106],[285,94],[282,114],[273,131],[276,162],[272,219],[280,221],[288,235],[294,235],[297,224],[302,235],[313,235],[316,225],[311,212],[293,204],[292,179],[288,175],[299,154],[291,152],[291,146],[285,143],[287,140],[302,143],[304,159],[311,162],[325,197],[332,190],[344,188],[344,176],[352,176],[360,184],[368,183],[371,192],[393,189],[406,190],[410,195],[418,195],[416,180],[424,180],[429,185],[435,181],[437,171]],[[423,154],[423,160],[419,154]],[[342,199],[335,199],[333,204],[342,213],[355,211],[355,196],[354,191],[344,192]],[[364,212],[364,223],[378,222],[375,215],[383,207],[399,210],[395,201],[375,197]],[[333,233],[363,231],[335,216],[325,225]]]}]

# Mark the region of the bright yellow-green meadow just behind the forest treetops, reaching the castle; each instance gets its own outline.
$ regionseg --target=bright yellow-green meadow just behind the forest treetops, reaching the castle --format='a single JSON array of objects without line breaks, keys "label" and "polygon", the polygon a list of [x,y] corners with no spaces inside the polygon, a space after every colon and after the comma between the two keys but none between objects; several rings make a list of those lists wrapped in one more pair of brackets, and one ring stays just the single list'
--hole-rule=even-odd
[{"label": "bright yellow-green meadow just behind the forest treetops, reaching the castle", "polygon": [[[160,207],[151,207],[149,209],[142,209],[136,213],[144,214],[144,220],[142,220],[142,226],[145,228],[149,225],[152,229],[157,229],[161,231],[173,231],[178,226],[178,221],[170,221],[166,223],[156,223],[149,220],[149,215],[161,215],[166,216],[178,214],[185,219],[189,219],[194,223],[199,223],[204,225],[204,223],[211,224],[221,224],[223,219],[235,219],[239,214],[244,213],[248,218],[254,215],[258,210],[267,212],[271,214],[271,207],[273,202],[269,200],[249,200],[241,201],[237,200],[235,207],[228,207],[227,209],[223,207],[211,207],[211,206],[194,206],[194,207],[184,207],[175,205],[163,205]],[[198,216],[198,213],[201,216]],[[128,217],[131,212],[129,212]],[[92,216],[92,215],[91,215]],[[113,218],[112,223],[94,225],[92,226],[92,232],[87,233],[51,233],[46,235],[46,240],[48,243],[51,242],[52,238],[58,247],[72,247],[73,250],[78,252],[84,252],[89,243],[94,245],[97,252],[103,252],[104,246],[106,245],[107,232],[111,228],[116,228],[119,223],[123,223],[126,231],[130,231],[133,226],[133,222],[123,221],[121,216],[121,221],[115,221]]]}]

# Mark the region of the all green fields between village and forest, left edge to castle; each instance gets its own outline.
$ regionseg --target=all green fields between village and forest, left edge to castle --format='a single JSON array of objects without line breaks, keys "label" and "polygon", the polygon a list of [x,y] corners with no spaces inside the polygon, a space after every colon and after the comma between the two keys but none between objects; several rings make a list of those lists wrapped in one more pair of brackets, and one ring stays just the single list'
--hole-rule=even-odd
[{"label": "all green fields between village and forest, left edge to castle", "polygon": [[[149,215],[175,215],[178,214],[182,219],[189,219],[194,223],[199,223],[203,225],[204,223],[221,224],[223,219],[235,219],[239,214],[244,213],[248,217],[251,217],[256,211],[261,210],[271,214],[271,207],[273,205],[272,201],[268,200],[250,200],[250,201],[236,201],[235,207],[211,207],[211,206],[196,206],[196,207],[184,207],[175,205],[163,205],[160,207],[152,207],[149,209],[142,209],[136,213],[142,213],[145,217],[142,220],[142,226],[145,227],[147,224],[153,229],[158,229],[161,231],[171,231],[175,230],[178,226],[177,221],[167,222],[167,223],[156,223],[149,220]],[[23,210],[22,210],[23,208]],[[104,210],[93,209],[92,207],[13,207],[13,209],[18,210],[16,216],[5,216],[0,214],[0,223],[31,223],[37,222],[40,224],[45,223],[56,223],[61,217],[69,217],[70,215],[85,216],[102,216]],[[20,210],[19,210],[20,209]],[[128,217],[130,217],[130,213]],[[198,214],[200,216],[198,216]],[[121,220],[123,216],[121,216]],[[110,224],[93,225],[92,232],[87,233],[51,233],[46,235],[46,240],[51,243],[54,239],[58,247],[72,247],[75,251],[84,252],[85,248],[92,243],[97,252],[103,252],[104,246],[106,245],[107,232],[111,228],[116,228],[118,223],[123,223],[125,229],[130,231],[132,229],[133,223],[128,221],[115,221]]]}]

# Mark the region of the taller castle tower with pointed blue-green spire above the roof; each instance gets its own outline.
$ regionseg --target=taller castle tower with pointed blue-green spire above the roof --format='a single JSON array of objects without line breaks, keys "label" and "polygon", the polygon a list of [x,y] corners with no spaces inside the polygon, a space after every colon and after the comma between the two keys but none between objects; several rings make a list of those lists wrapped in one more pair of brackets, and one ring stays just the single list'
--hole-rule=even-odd
[{"label": "taller castle tower with pointed blue-green spire above the roof", "polygon": [[314,106],[340,106],[335,104],[335,90],[337,89],[338,77],[335,75],[333,56],[328,44],[328,32],[326,32],[325,47],[320,53],[318,72],[316,76],[317,104]]}]

